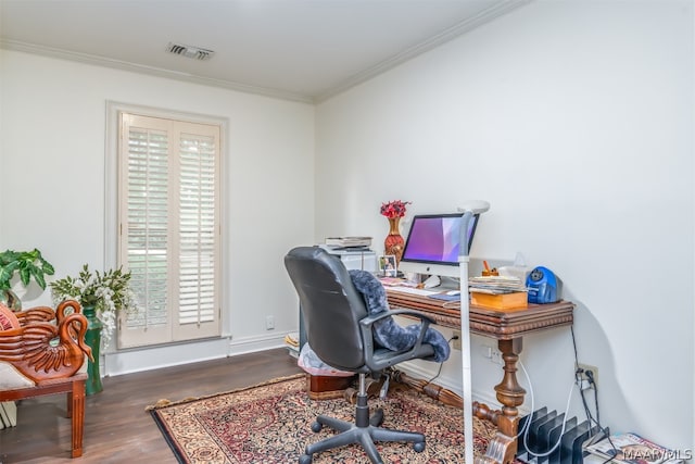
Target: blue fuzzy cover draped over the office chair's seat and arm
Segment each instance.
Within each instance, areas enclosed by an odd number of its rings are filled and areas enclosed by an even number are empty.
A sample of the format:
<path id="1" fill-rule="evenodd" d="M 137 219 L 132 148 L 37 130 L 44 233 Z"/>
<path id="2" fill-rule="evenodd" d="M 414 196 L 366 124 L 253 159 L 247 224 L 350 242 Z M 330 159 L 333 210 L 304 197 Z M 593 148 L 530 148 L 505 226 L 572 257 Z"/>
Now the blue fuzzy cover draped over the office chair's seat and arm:
<path id="1" fill-rule="evenodd" d="M 349 271 L 353 285 L 365 297 L 365 303 L 370 315 L 389 311 L 387 292 L 383 285 L 371 273 L 366 271 Z M 372 327 L 374 338 L 377 343 L 392 351 L 406 351 L 415 346 L 419 333 L 419 324 L 406 327 L 399 325 L 393 317 L 377 321 Z M 422 339 L 434 349 L 434 354 L 425 358 L 427 361 L 438 363 L 448 359 L 451 348 L 442 334 L 433 328 L 428 328 Z"/>

